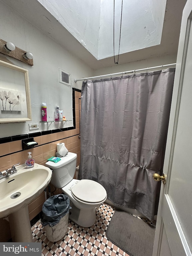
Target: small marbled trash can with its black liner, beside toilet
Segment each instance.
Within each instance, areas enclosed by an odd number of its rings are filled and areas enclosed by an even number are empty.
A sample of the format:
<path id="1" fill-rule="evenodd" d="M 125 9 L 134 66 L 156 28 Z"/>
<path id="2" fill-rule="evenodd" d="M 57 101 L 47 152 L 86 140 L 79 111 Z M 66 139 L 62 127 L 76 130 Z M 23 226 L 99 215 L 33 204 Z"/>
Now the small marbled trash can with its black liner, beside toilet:
<path id="1" fill-rule="evenodd" d="M 70 200 L 65 194 L 54 195 L 44 202 L 41 223 L 49 241 L 57 242 L 66 235 L 70 209 Z"/>

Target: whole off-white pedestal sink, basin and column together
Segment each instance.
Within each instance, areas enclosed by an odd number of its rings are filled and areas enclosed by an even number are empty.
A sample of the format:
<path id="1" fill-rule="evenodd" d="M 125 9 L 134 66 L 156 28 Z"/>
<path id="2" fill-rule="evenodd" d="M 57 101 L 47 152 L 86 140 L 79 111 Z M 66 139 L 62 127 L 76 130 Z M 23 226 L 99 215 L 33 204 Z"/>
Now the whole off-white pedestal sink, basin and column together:
<path id="1" fill-rule="evenodd" d="M 17 173 L 0 180 L 0 218 L 8 216 L 13 242 L 32 242 L 28 204 L 44 191 L 52 171 L 40 164 L 16 169 Z"/>

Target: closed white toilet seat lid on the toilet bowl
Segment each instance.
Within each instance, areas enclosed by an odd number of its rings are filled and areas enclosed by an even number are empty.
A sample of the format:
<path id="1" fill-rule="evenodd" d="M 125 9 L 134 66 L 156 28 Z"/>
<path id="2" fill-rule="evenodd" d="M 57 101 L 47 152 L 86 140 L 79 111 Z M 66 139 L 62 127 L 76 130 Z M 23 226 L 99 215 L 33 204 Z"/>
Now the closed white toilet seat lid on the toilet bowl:
<path id="1" fill-rule="evenodd" d="M 79 202 L 100 203 L 107 198 L 105 188 L 96 181 L 81 179 L 71 188 L 71 194 Z"/>

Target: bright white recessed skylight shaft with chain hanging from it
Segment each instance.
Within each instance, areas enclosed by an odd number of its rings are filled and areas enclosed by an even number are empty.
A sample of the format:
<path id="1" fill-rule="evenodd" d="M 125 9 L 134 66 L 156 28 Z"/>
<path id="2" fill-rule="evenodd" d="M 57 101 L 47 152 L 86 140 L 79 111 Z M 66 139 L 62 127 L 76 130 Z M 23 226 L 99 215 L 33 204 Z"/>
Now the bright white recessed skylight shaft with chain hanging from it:
<path id="1" fill-rule="evenodd" d="M 38 2 L 98 60 L 161 42 L 166 0 L 115 0 L 115 9 L 111 0 Z"/>

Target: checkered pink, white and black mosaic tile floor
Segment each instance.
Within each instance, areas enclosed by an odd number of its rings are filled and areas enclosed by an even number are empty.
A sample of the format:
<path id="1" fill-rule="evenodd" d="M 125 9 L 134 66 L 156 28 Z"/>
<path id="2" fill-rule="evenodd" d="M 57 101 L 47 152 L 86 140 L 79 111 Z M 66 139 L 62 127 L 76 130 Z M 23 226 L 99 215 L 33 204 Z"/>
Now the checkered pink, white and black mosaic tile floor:
<path id="1" fill-rule="evenodd" d="M 96 210 L 96 222 L 91 227 L 79 227 L 69 220 L 67 234 L 58 242 L 46 238 L 45 227 L 38 221 L 32 227 L 33 242 L 42 243 L 42 255 L 129 256 L 105 236 L 107 226 L 115 212 L 115 207 L 103 203 Z"/>

